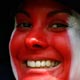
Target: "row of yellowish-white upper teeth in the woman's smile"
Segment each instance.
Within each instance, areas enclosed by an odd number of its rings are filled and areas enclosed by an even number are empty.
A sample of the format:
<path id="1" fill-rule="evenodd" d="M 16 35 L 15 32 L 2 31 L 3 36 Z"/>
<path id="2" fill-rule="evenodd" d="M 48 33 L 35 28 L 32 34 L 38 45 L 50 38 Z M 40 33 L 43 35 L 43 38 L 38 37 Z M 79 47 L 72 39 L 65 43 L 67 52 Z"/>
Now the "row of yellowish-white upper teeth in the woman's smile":
<path id="1" fill-rule="evenodd" d="M 59 61 L 50 61 L 50 60 L 26 61 L 26 65 L 32 68 L 55 67 L 58 64 L 59 64 Z"/>

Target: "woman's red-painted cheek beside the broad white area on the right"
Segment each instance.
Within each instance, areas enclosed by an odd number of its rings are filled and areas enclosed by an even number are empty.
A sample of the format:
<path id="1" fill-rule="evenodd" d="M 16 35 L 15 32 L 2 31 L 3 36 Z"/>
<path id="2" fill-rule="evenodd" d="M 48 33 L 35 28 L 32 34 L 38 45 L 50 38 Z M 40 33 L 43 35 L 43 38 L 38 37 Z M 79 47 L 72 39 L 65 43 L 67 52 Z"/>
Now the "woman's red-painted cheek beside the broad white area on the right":
<path id="1" fill-rule="evenodd" d="M 69 59 L 71 57 L 71 45 L 67 31 L 54 34 L 50 43 L 64 58 Z"/>

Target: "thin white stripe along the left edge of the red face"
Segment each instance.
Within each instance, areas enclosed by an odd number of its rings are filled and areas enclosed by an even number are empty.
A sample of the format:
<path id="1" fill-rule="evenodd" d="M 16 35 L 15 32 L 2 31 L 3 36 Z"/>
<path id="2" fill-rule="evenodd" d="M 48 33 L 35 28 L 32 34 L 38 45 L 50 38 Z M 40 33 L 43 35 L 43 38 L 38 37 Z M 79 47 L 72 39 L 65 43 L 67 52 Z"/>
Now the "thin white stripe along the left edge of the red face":
<path id="1" fill-rule="evenodd" d="M 13 37 L 15 31 L 16 31 L 16 25 L 17 25 L 17 23 L 16 23 L 16 20 L 15 20 L 15 27 L 14 27 L 14 30 L 11 34 L 10 42 L 9 42 L 9 53 L 10 53 L 10 60 L 11 60 L 11 66 L 12 66 L 13 74 L 14 74 L 16 80 L 18 80 L 18 73 L 17 73 L 16 67 L 15 67 L 15 64 L 14 64 L 14 61 L 13 61 L 13 58 L 12 58 L 12 55 L 11 55 L 11 51 L 10 51 L 10 43 L 11 43 L 12 37 Z"/>

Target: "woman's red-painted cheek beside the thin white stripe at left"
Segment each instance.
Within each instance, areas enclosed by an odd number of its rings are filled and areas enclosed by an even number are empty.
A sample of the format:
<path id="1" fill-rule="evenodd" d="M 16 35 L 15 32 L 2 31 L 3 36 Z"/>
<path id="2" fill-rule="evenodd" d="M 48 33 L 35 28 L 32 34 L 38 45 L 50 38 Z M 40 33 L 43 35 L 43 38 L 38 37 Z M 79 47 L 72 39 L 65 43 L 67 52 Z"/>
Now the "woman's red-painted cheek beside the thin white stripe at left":
<path id="1" fill-rule="evenodd" d="M 20 35 L 21 34 L 21 35 Z M 19 53 L 21 46 L 24 44 L 25 35 L 15 31 L 12 35 L 12 39 L 10 40 L 10 51 L 13 56 Z"/>

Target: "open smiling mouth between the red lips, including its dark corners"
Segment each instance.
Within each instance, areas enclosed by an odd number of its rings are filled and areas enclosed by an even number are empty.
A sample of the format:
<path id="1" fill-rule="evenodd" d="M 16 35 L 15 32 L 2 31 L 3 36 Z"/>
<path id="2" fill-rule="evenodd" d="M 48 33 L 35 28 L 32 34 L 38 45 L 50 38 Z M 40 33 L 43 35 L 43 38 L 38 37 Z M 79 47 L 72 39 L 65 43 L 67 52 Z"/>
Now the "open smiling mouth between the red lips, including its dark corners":
<path id="1" fill-rule="evenodd" d="M 60 63 L 57 60 L 26 60 L 23 62 L 28 68 L 52 68 L 57 67 Z"/>

